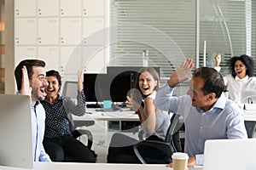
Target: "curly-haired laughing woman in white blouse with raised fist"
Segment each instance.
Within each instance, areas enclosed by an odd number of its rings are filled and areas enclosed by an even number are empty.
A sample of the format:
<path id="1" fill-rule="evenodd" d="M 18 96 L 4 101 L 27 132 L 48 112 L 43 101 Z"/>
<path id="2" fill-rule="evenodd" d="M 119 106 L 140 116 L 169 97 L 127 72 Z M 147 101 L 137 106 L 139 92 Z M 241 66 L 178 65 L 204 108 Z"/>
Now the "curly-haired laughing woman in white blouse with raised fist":
<path id="1" fill-rule="evenodd" d="M 215 56 L 215 69 L 220 71 L 221 55 Z M 244 90 L 256 91 L 256 78 L 253 77 L 253 58 L 246 54 L 235 56 L 230 59 L 231 73 L 224 77 L 225 86 L 229 92 L 229 99 L 234 100 L 240 107 L 246 103 L 241 99 L 241 92 Z"/>

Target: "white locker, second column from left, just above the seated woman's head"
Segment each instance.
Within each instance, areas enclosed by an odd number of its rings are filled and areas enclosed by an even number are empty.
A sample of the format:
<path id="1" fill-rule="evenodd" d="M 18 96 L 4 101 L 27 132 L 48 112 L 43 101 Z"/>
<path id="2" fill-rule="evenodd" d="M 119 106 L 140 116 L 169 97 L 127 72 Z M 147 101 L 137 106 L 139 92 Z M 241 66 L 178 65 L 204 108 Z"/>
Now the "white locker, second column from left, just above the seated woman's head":
<path id="1" fill-rule="evenodd" d="M 38 47 L 38 59 L 43 59 L 46 63 L 45 71 L 59 70 L 59 48 L 58 47 Z"/>

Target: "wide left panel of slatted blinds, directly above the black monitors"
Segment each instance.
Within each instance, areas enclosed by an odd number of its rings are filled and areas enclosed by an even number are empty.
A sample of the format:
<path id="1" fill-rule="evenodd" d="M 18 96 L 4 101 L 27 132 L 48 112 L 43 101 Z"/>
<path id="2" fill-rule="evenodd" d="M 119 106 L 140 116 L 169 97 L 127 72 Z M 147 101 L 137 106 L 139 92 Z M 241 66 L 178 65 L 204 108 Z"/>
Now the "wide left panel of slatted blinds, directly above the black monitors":
<path id="1" fill-rule="evenodd" d="M 110 65 L 160 66 L 164 82 L 186 56 L 195 57 L 195 0 L 111 1 Z"/>

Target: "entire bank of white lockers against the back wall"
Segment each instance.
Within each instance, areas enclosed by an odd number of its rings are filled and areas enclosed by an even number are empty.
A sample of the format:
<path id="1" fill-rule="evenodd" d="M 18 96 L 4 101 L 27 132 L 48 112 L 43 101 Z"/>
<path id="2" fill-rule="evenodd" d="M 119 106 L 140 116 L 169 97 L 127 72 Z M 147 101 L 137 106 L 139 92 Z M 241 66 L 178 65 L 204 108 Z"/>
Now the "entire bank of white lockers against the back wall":
<path id="1" fill-rule="evenodd" d="M 15 60 L 45 59 L 47 69 L 61 76 L 100 71 L 105 50 L 96 52 L 86 68 L 83 55 L 106 44 L 106 5 L 105 0 L 15 0 Z"/>

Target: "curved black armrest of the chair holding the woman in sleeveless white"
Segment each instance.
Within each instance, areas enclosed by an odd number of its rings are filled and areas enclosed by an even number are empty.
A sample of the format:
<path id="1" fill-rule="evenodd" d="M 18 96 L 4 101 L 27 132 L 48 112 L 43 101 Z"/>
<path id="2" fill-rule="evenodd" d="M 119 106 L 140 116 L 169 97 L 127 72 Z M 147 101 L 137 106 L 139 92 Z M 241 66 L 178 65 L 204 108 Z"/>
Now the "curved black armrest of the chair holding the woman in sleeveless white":
<path id="1" fill-rule="evenodd" d="M 142 145 L 147 145 L 150 147 L 154 147 L 158 150 L 163 151 L 167 156 L 172 156 L 172 153 L 174 152 L 173 150 L 173 146 L 165 143 L 165 142 L 160 142 L 160 141 L 154 141 L 154 140 L 144 140 L 142 142 L 139 142 L 137 144 L 133 145 L 133 150 L 137 156 L 137 158 L 139 159 L 139 161 L 141 161 L 143 164 L 146 164 L 147 162 L 143 159 L 143 156 L 141 156 L 138 147 L 142 146 Z"/>

